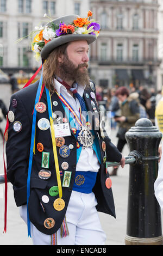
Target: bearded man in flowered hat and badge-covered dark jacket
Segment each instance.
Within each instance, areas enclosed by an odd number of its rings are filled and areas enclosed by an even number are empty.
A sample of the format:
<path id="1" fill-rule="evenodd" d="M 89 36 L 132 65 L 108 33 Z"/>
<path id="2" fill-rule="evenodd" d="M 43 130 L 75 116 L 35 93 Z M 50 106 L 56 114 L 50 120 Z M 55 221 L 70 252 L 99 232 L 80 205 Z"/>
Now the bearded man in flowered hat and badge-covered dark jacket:
<path id="1" fill-rule="evenodd" d="M 115 217 L 105 167 L 106 161 L 124 167 L 124 157 L 99 128 L 87 71 L 99 25 L 83 19 L 79 27 L 81 19 L 69 15 L 45 26 L 33 44 L 45 41 L 41 78 L 10 101 L 7 175 L 34 245 L 104 245 L 97 211 Z M 43 38 L 47 29 L 51 40 Z"/>

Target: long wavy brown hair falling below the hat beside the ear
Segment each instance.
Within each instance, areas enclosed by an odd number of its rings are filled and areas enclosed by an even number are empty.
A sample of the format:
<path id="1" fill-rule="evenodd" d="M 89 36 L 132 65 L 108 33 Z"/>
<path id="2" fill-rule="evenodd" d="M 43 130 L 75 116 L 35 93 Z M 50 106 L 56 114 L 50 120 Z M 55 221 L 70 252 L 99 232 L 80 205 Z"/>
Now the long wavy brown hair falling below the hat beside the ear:
<path id="1" fill-rule="evenodd" d="M 67 42 L 64 45 L 54 48 L 43 63 L 43 83 L 51 93 L 54 93 L 55 90 L 54 77 L 59 69 L 58 58 L 61 57 L 62 54 L 65 54 L 68 44 Z"/>

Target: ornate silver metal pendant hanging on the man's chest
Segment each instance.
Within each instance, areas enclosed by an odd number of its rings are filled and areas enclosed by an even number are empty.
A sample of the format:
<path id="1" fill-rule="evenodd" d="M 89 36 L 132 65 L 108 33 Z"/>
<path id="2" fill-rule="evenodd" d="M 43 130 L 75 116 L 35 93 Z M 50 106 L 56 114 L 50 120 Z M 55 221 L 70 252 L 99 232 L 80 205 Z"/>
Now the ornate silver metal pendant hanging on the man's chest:
<path id="1" fill-rule="evenodd" d="M 82 144 L 83 148 L 93 148 L 93 139 L 95 136 L 90 132 L 89 126 L 80 126 L 80 132 L 78 133 L 78 141 Z"/>

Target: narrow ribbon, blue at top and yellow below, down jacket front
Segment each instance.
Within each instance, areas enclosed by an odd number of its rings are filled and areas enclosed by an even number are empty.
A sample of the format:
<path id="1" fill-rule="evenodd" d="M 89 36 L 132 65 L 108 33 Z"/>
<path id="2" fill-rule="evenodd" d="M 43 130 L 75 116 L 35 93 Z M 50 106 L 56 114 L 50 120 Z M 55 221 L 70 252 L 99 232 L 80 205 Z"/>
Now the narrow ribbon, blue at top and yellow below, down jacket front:
<path id="1" fill-rule="evenodd" d="M 56 170 L 56 175 L 57 175 L 59 198 L 61 198 L 62 197 L 62 186 L 61 186 L 61 180 L 60 180 L 59 163 L 58 163 L 58 156 L 57 156 L 57 147 L 56 147 L 56 142 L 55 142 L 55 132 L 54 132 L 53 117 L 52 117 L 53 111 L 52 111 L 51 94 L 50 94 L 49 90 L 46 87 L 45 87 L 45 90 L 46 90 L 46 95 L 47 95 L 49 120 L 50 120 L 50 124 L 51 124 L 53 155 L 54 155 L 55 170 Z"/>

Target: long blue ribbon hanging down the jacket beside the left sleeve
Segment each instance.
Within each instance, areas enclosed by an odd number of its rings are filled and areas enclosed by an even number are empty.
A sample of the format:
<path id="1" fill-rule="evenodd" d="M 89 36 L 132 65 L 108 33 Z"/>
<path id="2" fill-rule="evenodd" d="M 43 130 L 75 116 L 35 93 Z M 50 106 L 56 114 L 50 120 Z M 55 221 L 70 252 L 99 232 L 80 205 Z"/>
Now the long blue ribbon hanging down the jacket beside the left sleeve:
<path id="1" fill-rule="evenodd" d="M 42 72 L 43 72 L 43 68 L 42 68 Z M 39 86 L 37 88 L 35 105 L 37 102 L 39 102 L 39 96 L 40 96 L 41 87 L 42 87 L 42 72 L 41 72 Z M 34 148 L 34 139 L 35 139 L 35 127 L 36 127 L 36 114 L 37 114 L 35 105 L 34 105 L 34 113 L 33 113 L 32 136 L 31 136 L 31 141 L 30 141 L 29 166 L 28 166 L 28 176 L 27 176 L 27 227 L 28 227 L 28 236 L 30 236 L 30 237 L 31 237 L 31 234 L 30 234 L 28 202 L 29 202 L 29 196 L 30 196 L 30 175 L 31 175 L 31 170 L 32 170 L 33 148 Z"/>

